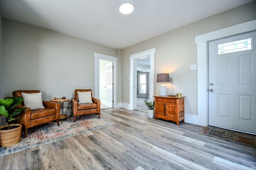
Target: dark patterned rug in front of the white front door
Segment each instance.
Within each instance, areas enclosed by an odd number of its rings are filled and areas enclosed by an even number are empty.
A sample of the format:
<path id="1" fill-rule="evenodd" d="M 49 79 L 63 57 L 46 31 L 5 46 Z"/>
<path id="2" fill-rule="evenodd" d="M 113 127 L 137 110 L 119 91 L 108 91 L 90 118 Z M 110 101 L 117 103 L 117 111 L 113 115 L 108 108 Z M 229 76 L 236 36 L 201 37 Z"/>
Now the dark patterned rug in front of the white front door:
<path id="1" fill-rule="evenodd" d="M 218 127 L 203 127 L 199 132 L 201 135 L 216 137 L 233 143 L 246 145 L 248 147 L 256 148 L 256 135 L 221 129 Z"/>

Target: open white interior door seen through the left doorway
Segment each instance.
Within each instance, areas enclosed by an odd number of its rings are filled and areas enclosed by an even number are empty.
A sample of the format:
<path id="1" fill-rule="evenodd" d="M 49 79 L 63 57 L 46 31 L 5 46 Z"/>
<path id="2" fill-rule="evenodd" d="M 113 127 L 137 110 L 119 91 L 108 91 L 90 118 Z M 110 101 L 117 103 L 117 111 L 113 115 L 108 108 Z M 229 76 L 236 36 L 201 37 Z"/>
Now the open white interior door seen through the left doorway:
<path id="1" fill-rule="evenodd" d="M 113 107 L 113 62 L 105 64 L 105 105 Z"/>

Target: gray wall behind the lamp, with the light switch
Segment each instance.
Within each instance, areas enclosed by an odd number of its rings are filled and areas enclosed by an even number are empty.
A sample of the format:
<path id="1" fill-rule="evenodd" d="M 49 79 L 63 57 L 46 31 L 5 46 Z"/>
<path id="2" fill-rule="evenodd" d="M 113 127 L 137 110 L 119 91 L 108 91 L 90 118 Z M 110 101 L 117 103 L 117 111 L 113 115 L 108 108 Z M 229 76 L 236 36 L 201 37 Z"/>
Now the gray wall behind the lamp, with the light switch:
<path id="1" fill-rule="evenodd" d="M 190 64 L 197 64 L 195 36 L 256 19 L 256 2 L 222 12 L 196 21 L 162 35 L 142 41 L 122 50 L 122 102 L 130 103 L 130 55 L 156 48 L 155 72 L 169 73 L 172 82 L 166 84 L 167 94 L 182 93 L 185 98 L 185 113 L 197 115 L 197 70 L 190 70 Z M 156 75 L 154 75 L 156 77 Z M 159 94 L 155 84 L 155 95 Z"/>

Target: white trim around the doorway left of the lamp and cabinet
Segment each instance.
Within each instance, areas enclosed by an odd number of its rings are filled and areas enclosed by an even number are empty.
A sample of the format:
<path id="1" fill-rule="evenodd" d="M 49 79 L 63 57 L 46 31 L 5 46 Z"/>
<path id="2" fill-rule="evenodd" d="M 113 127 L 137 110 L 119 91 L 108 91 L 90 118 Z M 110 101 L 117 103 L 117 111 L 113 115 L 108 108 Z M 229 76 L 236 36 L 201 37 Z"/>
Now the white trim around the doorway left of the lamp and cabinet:
<path id="1" fill-rule="evenodd" d="M 150 56 L 150 91 L 149 91 L 149 98 L 150 101 L 154 101 L 154 61 L 155 61 L 155 53 L 156 48 L 148 49 L 146 51 L 142 51 L 139 53 L 135 53 L 130 55 L 130 109 L 134 110 L 136 106 L 136 96 L 137 96 L 137 62 L 136 59 L 140 57 Z"/>

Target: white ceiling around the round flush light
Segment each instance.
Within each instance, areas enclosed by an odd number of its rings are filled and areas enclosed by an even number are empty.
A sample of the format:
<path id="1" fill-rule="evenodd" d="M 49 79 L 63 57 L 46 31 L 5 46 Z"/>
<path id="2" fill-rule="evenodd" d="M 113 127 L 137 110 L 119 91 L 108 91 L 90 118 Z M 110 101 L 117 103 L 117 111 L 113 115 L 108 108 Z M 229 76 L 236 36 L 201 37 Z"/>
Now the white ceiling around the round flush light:
<path id="1" fill-rule="evenodd" d="M 123 49 L 255 0 L 0 0 L 2 18 Z M 118 11 L 124 2 L 134 12 Z"/>

